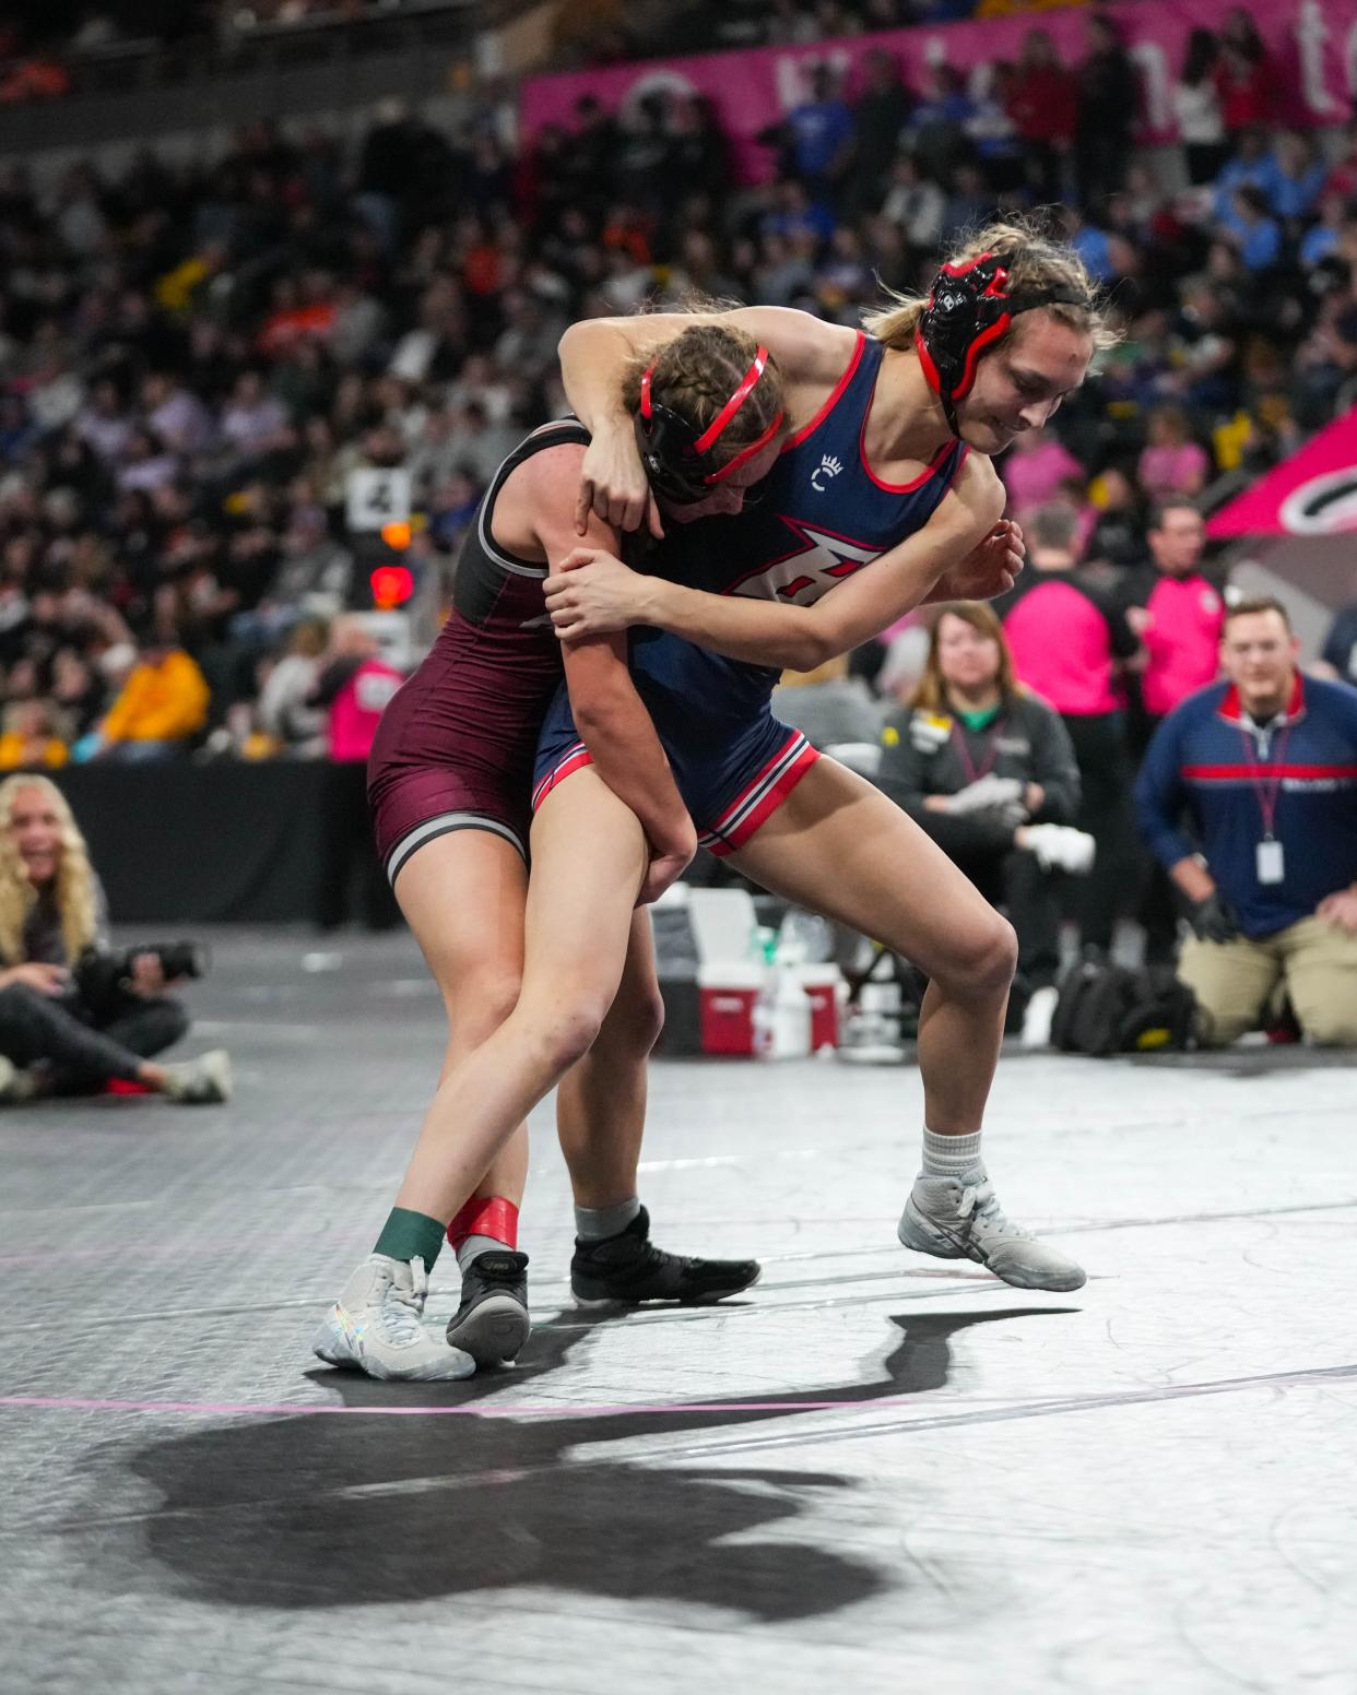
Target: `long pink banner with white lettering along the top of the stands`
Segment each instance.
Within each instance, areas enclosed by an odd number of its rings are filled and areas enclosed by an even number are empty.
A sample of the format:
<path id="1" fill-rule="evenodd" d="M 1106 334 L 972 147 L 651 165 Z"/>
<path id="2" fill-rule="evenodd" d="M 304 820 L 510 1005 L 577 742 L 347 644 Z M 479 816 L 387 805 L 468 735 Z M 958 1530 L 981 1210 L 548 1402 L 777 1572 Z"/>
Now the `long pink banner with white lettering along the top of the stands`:
<path id="1" fill-rule="evenodd" d="M 1187 36 L 1196 27 L 1216 29 L 1233 0 L 1138 0 L 1099 7 L 1116 19 L 1121 37 L 1140 71 L 1143 139 L 1174 141 L 1172 88 L 1182 64 Z M 1272 49 L 1286 90 L 1286 119 L 1294 124 L 1342 124 L 1357 95 L 1357 0 L 1254 0 L 1248 7 Z M 984 92 L 996 59 L 1016 59 L 1030 29 L 1045 29 L 1070 66 L 1084 58 L 1087 14 L 1081 8 L 994 17 L 972 24 L 896 29 L 879 36 L 823 41 L 809 47 L 758 47 L 743 53 L 707 53 L 687 59 L 643 59 L 563 76 L 534 76 L 524 83 L 521 117 L 529 139 L 543 124 L 573 127 L 575 102 L 597 95 L 611 112 L 628 112 L 655 90 L 677 88 L 706 95 L 734 142 L 740 178 L 767 178 L 772 159 L 755 136 L 809 98 L 809 71 L 828 59 L 846 73 L 846 92 L 857 90 L 857 66 L 870 47 L 891 51 L 916 90 L 924 69 L 945 61 L 967 71 L 972 93 Z"/>

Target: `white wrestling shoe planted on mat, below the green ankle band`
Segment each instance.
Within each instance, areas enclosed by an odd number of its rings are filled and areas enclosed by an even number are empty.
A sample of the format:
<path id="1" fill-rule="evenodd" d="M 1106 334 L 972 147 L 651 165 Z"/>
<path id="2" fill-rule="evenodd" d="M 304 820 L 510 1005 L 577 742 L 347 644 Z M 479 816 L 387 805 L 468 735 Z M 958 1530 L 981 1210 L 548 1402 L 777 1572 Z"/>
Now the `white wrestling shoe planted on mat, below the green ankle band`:
<path id="1" fill-rule="evenodd" d="M 316 1332 L 312 1353 L 331 1366 L 351 1366 L 383 1381 L 431 1383 L 470 1376 L 477 1363 L 419 1322 L 429 1273 L 416 1258 L 368 1254 Z"/>

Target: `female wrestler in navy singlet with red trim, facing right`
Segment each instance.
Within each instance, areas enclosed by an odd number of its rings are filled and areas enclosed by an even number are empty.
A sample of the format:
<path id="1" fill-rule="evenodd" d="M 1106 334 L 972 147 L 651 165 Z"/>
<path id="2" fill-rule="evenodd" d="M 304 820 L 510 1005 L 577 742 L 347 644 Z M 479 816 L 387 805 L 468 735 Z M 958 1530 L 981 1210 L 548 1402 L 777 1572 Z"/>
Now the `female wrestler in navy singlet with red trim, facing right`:
<path id="1" fill-rule="evenodd" d="M 690 322 L 568 332 L 563 370 L 572 400 L 607 437 L 604 464 L 623 458 L 626 417 L 656 485 L 702 473 L 682 420 L 638 405 L 646 376 L 660 373 L 656 339 Z M 641 598 L 646 620 L 673 634 L 634 642 L 633 680 L 707 846 L 765 886 L 877 936 L 931 978 L 919 1032 L 924 1170 L 901 1239 L 974 1258 L 1021 1287 L 1077 1288 L 1079 1266 L 1008 1222 L 980 1163 L 1016 956 L 1011 927 L 891 802 L 772 719 L 777 673 L 765 668 L 807 670 L 930 595 L 979 598 L 1011 581 L 987 453 L 1047 422 L 1082 381 L 1101 334 L 1087 276 L 1069 249 L 1001 225 L 943 268 L 926 302 L 901 300 L 872 319 L 867 337 L 763 308 L 716 322 L 757 325 L 777 344 L 792 434 L 740 520 L 670 527 L 656 556 L 665 578 L 645 580 Z M 606 481 L 592 478 L 611 502 Z M 965 568 L 945 576 L 957 561 Z M 595 556 L 580 581 L 597 588 L 609 570 L 616 580 L 617 563 Z M 570 576 L 555 585 L 567 602 Z M 641 822 L 592 770 L 560 697 L 538 773 L 519 1000 L 444 1078 L 402 1186 L 402 1205 L 431 1227 L 456 1212 L 524 1112 L 589 1051 L 617 995 L 646 866 Z M 572 1173 L 595 1192 L 611 1188 L 617 1215 L 636 1207 L 616 1141 L 572 1146 L 563 1132 L 563 1146 Z"/>

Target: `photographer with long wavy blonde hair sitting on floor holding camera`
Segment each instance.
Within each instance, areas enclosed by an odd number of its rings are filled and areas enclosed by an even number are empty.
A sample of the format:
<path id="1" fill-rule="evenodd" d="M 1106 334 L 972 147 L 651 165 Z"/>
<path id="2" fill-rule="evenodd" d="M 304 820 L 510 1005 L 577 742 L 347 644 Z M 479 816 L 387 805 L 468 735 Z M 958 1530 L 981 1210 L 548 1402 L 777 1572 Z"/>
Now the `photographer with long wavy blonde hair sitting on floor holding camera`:
<path id="1" fill-rule="evenodd" d="M 188 1029 L 165 990 L 197 975 L 192 949 L 110 949 L 85 837 L 44 776 L 0 783 L 0 1098 L 95 1093 L 112 1080 L 185 1105 L 229 1098 L 224 1053 L 151 1061 Z"/>

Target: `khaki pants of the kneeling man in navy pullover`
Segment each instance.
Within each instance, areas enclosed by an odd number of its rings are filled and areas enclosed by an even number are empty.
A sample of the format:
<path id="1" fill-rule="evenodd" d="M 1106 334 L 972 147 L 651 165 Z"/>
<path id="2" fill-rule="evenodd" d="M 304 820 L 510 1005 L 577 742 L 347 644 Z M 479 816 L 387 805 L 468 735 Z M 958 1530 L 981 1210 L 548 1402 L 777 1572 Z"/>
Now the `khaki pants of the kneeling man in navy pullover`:
<path id="1" fill-rule="evenodd" d="M 1357 936 L 1326 919 L 1301 919 L 1262 941 L 1203 942 L 1189 936 L 1177 975 L 1198 997 L 1206 1048 L 1225 1048 L 1255 1031 L 1279 983 L 1311 1042 L 1357 1044 Z"/>

